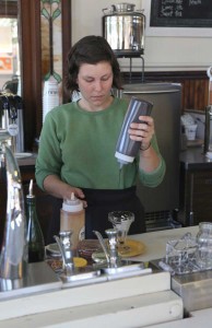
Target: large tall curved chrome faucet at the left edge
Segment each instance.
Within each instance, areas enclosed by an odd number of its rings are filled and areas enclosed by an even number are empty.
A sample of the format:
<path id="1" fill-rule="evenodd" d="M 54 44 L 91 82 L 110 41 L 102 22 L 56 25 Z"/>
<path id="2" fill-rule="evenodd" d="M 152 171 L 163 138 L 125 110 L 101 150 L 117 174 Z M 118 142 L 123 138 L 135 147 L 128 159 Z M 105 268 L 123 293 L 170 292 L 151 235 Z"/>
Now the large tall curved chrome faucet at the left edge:
<path id="1" fill-rule="evenodd" d="M 0 255 L 0 281 L 22 280 L 27 273 L 27 242 L 24 196 L 20 168 L 3 138 L 0 154 L 5 159 L 7 219 Z"/>

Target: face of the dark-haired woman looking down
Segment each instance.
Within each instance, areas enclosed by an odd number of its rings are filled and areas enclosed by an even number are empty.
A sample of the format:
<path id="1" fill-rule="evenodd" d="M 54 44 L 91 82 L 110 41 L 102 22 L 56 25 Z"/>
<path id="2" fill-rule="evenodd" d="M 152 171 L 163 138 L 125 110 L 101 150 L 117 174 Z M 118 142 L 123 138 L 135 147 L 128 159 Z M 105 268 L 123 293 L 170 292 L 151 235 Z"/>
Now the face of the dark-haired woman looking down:
<path id="1" fill-rule="evenodd" d="M 108 61 L 80 66 L 76 83 L 82 94 L 81 104 L 85 109 L 101 110 L 110 104 L 113 79 L 113 70 Z"/>

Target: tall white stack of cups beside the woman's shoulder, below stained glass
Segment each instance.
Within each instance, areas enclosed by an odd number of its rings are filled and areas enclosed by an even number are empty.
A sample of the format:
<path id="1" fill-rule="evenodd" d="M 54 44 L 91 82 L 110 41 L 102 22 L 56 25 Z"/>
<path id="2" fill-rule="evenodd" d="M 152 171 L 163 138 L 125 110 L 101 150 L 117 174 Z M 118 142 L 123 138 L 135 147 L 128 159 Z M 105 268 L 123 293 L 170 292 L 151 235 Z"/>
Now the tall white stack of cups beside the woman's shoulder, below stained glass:
<path id="1" fill-rule="evenodd" d="M 59 87 L 57 80 L 50 75 L 48 81 L 44 83 L 43 95 L 43 122 L 49 110 L 59 105 Z"/>

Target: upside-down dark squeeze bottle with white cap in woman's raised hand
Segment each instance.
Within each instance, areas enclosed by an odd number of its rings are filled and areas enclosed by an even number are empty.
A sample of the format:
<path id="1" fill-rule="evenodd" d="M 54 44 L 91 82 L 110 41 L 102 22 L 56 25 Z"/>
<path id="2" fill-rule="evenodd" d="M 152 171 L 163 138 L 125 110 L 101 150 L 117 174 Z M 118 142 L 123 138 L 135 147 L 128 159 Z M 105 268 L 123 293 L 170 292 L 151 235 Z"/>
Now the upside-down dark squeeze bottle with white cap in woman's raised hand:
<path id="1" fill-rule="evenodd" d="M 152 107 L 153 105 L 149 102 L 138 99 L 136 97 L 131 98 L 116 145 L 115 157 L 117 157 L 120 168 L 123 164 L 133 162 L 141 145 L 140 141 L 134 141 L 130 139 L 130 134 L 128 133 L 130 124 L 141 122 L 139 120 L 139 116 L 149 116 L 151 114 Z"/>

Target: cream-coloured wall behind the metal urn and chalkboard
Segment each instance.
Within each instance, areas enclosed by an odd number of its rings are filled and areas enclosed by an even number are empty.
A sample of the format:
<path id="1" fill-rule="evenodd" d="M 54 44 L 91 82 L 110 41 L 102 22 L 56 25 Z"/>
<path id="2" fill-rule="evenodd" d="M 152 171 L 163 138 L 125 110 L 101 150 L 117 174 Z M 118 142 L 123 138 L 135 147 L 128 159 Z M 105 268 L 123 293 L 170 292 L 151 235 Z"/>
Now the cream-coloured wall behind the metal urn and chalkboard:
<path id="1" fill-rule="evenodd" d="M 72 0 L 72 42 L 87 34 L 102 35 L 102 9 L 121 1 Z M 136 9 L 144 9 L 146 15 L 145 71 L 207 70 L 212 65 L 212 28 L 149 28 L 150 0 L 129 1 Z M 163 34 L 163 35 L 162 35 Z M 120 59 L 123 70 L 128 61 Z M 134 70 L 140 59 L 132 61 Z"/>

